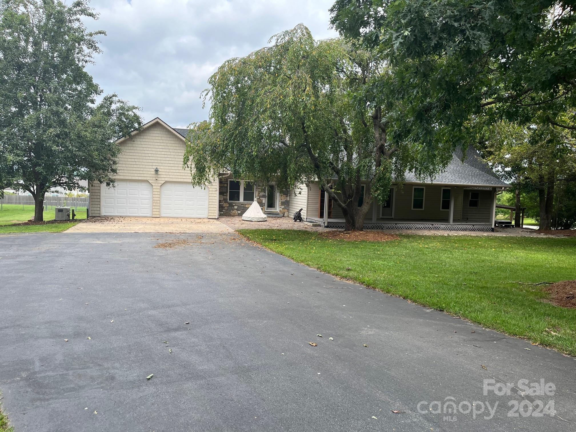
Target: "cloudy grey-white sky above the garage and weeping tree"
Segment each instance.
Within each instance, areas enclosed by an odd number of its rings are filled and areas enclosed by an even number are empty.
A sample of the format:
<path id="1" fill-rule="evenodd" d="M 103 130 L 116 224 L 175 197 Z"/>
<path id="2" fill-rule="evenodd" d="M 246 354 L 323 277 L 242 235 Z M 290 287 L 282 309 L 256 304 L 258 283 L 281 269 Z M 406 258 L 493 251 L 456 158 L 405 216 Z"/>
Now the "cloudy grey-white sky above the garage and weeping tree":
<path id="1" fill-rule="evenodd" d="M 92 0 L 89 29 L 107 32 L 89 66 L 105 93 L 142 107 L 145 122 L 172 127 L 207 119 L 200 92 L 221 63 L 266 46 L 303 22 L 316 39 L 334 37 L 334 0 Z"/>

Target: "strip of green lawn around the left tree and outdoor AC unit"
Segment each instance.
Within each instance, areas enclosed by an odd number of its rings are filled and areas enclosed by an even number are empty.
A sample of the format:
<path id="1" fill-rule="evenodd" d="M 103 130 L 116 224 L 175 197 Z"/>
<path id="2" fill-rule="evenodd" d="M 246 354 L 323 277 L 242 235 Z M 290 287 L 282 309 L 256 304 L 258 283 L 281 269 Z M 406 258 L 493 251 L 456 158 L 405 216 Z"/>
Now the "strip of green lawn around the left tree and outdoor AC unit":
<path id="1" fill-rule="evenodd" d="M 34 215 L 34 206 L 22 206 L 19 204 L 2 204 L 0 210 L 0 234 L 8 233 L 37 233 L 51 232 L 58 233 L 69 229 L 78 222 L 47 223 L 46 225 L 16 225 L 26 222 Z M 44 211 L 44 221 L 53 221 L 55 215 L 54 208 Z M 78 207 L 77 219 L 86 219 L 85 207 Z"/>

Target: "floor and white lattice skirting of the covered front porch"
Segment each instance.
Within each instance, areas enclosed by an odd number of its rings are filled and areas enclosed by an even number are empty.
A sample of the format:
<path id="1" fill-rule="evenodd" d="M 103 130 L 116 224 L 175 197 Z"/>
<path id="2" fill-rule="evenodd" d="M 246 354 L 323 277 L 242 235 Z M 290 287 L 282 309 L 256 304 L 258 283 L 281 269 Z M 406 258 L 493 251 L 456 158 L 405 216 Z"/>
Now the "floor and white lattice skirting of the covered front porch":
<path id="1" fill-rule="evenodd" d="M 343 218 L 306 218 L 306 222 L 319 223 L 324 228 L 344 229 Z M 492 231 L 491 223 L 486 221 L 418 221 L 414 219 L 378 219 L 375 222 L 365 221 L 364 229 L 412 229 L 412 230 L 447 230 L 447 231 Z"/>

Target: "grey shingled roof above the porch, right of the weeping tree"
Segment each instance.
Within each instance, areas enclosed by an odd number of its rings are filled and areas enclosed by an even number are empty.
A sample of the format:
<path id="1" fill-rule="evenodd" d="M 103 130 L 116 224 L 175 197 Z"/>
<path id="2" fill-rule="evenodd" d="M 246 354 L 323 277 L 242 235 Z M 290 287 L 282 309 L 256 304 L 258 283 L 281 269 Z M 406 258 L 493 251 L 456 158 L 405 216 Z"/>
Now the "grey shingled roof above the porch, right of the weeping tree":
<path id="1" fill-rule="evenodd" d="M 464 154 L 461 149 L 457 149 L 452 154 L 452 161 L 446 168 L 434 176 L 426 179 L 425 183 L 457 184 L 469 186 L 491 186 L 509 187 L 510 185 L 500 180 L 492 171 L 490 166 L 480 158 L 480 153 L 475 149 L 468 149 L 466 158 L 462 160 Z M 422 183 L 414 173 L 406 173 L 407 183 Z"/>

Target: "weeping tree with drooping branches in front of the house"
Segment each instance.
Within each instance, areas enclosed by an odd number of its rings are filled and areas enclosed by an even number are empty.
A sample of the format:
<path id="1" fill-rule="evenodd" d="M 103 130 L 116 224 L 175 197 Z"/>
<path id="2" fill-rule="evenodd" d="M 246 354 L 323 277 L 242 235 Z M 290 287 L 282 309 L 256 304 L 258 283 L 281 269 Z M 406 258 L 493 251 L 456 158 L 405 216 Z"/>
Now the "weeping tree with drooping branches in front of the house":
<path id="1" fill-rule="evenodd" d="M 191 125 L 184 156 L 192 183 L 225 169 L 285 188 L 319 181 L 345 229 L 362 230 L 393 178 L 437 165 L 391 133 L 399 107 L 371 96 L 374 80 L 388 75 L 376 54 L 342 39 L 316 41 L 301 24 L 269 43 L 210 77 L 210 119 Z"/>

